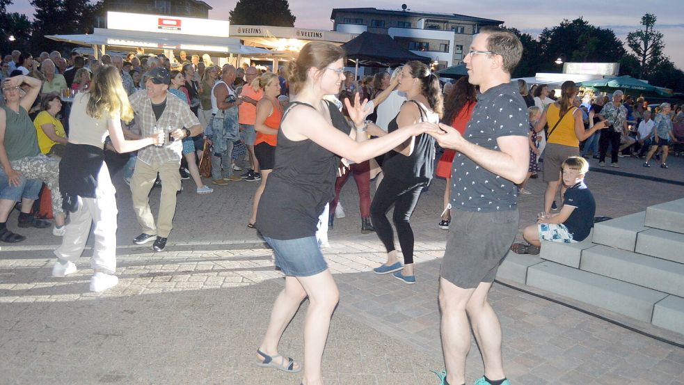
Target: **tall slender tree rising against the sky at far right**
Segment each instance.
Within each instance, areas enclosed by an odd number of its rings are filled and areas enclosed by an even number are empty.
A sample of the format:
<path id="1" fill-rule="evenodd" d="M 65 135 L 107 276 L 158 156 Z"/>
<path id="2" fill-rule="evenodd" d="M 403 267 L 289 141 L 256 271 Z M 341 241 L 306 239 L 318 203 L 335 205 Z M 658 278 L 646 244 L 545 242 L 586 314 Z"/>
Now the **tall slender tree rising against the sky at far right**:
<path id="1" fill-rule="evenodd" d="M 662 49 L 662 33 L 654 29 L 655 15 L 646 13 L 642 16 L 643 29 L 637 29 L 627 34 L 627 45 L 639 58 L 639 79 L 644 79 L 658 68 L 665 59 Z"/>

